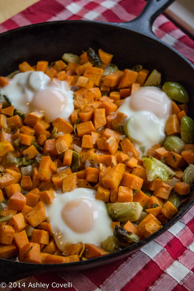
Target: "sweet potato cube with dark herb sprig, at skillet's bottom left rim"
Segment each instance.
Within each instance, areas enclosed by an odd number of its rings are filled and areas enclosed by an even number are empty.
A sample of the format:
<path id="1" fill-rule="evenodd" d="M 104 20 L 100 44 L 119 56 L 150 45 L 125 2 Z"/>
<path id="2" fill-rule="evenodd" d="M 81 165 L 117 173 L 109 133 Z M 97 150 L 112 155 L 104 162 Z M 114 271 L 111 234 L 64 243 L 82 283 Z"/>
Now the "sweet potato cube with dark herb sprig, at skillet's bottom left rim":
<path id="1" fill-rule="evenodd" d="M 19 260 L 26 263 L 40 264 L 40 244 L 29 242 L 19 249 Z"/>

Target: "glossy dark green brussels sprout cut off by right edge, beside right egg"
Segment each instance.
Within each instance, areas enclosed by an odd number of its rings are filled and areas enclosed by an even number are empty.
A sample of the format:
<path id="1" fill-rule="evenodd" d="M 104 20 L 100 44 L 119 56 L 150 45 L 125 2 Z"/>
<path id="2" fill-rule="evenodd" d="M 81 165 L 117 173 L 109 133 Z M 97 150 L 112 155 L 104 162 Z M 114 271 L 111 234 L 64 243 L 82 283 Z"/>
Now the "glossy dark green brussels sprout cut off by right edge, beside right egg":
<path id="1" fill-rule="evenodd" d="M 181 139 L 186 144 L 194 143 L 194 121 L 188 116 L 181 119 Z"/>

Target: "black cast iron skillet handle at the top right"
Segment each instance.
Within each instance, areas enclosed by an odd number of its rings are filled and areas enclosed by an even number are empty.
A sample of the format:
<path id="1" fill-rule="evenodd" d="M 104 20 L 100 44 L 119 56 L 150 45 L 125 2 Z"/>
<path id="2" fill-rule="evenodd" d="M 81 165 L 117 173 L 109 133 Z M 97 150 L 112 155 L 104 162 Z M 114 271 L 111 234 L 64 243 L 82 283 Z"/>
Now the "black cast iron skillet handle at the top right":
<path id="1" fill-rule="evenodd" d="M 152 25 L 156 17 L 165 11 L 175 0 L 147 0 L 140 15 L 128 22 L 120 22 L 119 26 L 147 36 L 154 36 Z"/>

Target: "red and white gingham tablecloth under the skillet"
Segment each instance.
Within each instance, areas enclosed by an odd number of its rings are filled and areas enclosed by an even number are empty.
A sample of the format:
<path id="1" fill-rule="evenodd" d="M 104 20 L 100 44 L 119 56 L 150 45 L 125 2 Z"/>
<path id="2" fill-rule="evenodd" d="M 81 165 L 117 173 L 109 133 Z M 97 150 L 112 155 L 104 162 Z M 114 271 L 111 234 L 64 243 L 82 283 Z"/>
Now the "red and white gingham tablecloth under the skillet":
<path id="1" fill-rule="evenodd" d="M 0 33 L 32 23 L 64 19 L 129 21 L 143 0 L 40 0 L 0 24 Z M 164 15 L 153 26 L 156 36 L 194 64 L 194 41 Z M 6 270 L 5 270 L 6 272 Z M 63 285 L 63 288 L 60 287 Z M 45 273 L 7 284 L 13 290 L 194 291 L 194 206 L 168 231 L 127 258 L 82 272 Z"/>

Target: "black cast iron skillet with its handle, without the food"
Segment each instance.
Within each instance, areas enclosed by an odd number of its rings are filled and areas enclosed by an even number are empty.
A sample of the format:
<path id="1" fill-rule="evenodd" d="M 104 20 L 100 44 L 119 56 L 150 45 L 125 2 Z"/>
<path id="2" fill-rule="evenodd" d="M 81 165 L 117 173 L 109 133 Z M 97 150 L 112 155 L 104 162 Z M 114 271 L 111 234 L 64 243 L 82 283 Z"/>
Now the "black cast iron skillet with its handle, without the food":
<path id="1" fill-rule="evenodd" d="M 119 69 L 141 64 L 162 73 L 162 82 L 179 82 L 190 95 L 189 115 L 194 118 L 194 66 L 179 52 L 166 45 L 152 32 L 152 24 L 174 0 L 150 0 L 139 17 L 125 23 L 92 21 L 55 21 L 14 29 L 0 35 L 0 75 L 18 69 L 19 63 L 38 60 L 56 61 L 65 52 L 80 55 L 82 50 L 99 48 L 114 55 Z M 13 282 L 41 272 L 79 271 L 127 257 L 167 230 L 194 203 L 194 192 L 176 217 L 157 233 L 123 250 L 82 262 L 38 265 L 0 259 L 1 281 Z"/>

